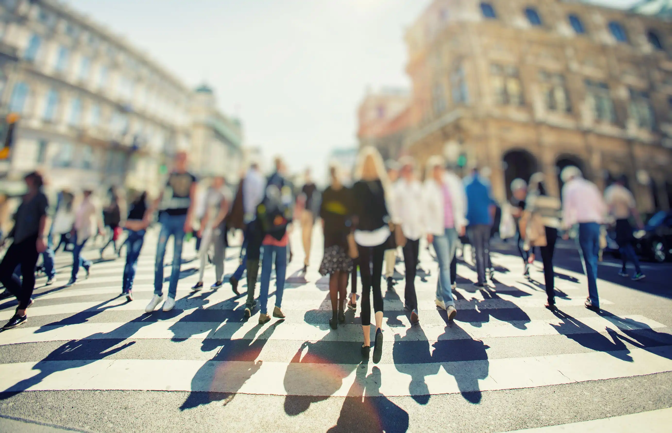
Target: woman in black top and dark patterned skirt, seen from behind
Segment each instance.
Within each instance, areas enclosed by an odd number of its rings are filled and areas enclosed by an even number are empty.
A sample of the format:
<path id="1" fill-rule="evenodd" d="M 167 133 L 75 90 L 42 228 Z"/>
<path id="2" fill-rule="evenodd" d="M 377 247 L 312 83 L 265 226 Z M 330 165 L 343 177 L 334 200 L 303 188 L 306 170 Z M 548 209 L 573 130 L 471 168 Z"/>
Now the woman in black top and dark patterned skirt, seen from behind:
<path id="1" fill-rule="evenodd" d="M 347 236 L 350 234 L 350 191 L 343 187 L 336 167 L 331 167 L 331 185 L 322 194 L 320 217 L 325 235 L 325 255 L 320 265 L 320 274 L 329 274 L 329 297 L 331 298 L 331 319 L 329 325 L 337 329 L 338 323 L 345 323 L 343 303 L 345 303 L 347 277 L 352 272 L 352 259 L 348 255 Z M 340 299 L 339 299 L 340 296 Z"/>

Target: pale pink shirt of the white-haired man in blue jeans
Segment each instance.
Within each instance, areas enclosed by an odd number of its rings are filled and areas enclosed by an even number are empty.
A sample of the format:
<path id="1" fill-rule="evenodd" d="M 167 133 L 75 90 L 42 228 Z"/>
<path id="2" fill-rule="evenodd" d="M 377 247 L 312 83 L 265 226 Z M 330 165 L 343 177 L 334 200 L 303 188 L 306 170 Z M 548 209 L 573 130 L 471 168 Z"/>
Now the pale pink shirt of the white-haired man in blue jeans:
<path id="1" fill-rule="evenodd" d="M 607 205 L 597 186 L 583 178 L 574 178 L 562 187 L 562 221 L 566 227 L 576 223 L 604 222 Z"/>

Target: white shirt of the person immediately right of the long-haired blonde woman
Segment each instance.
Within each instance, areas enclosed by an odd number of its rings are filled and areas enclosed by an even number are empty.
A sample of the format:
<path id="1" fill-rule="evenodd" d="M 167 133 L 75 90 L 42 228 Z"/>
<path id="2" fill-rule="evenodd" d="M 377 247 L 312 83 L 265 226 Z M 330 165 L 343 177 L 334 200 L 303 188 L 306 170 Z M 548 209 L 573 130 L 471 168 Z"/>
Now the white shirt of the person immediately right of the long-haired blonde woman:
<path id="1" fill-rule="evenodd" d="M 401 224 L 407 239 L 417 241 L 425 233 L 423 188 L 418 180 L 400 179 L 392 188 L 392 222 Z"/>

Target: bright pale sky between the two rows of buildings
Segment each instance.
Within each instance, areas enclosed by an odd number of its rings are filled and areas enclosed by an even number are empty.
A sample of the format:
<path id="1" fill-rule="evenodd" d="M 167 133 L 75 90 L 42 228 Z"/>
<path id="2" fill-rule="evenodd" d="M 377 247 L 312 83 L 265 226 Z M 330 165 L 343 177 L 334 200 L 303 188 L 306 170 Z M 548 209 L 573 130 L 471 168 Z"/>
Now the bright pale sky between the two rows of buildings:
<path id="1" fill-rule="evenodd" d="M 247 145 L 316 177 L 356 144 L 368 85 L 409 85 L 403 32 L 430 1 L 67 0 L 190 87 L 206 81 Z"/>

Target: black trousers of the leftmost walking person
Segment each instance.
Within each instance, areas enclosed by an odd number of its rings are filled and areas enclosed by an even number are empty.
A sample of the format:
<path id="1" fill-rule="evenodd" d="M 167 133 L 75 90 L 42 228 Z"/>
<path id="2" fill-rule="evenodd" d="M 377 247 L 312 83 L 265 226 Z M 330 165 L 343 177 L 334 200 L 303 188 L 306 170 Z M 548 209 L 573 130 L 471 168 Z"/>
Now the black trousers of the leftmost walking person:
<path id="1" fill-rule="evenodd" d="M 19 309 L 26 309 L 35 288 L 35 265 L 38 262 L 37 235 L 12 243 L 0 263 L 0 282 L 19 301 Z M 21 265 L 23 280 L 14 274 L 17 265 Z"/>

